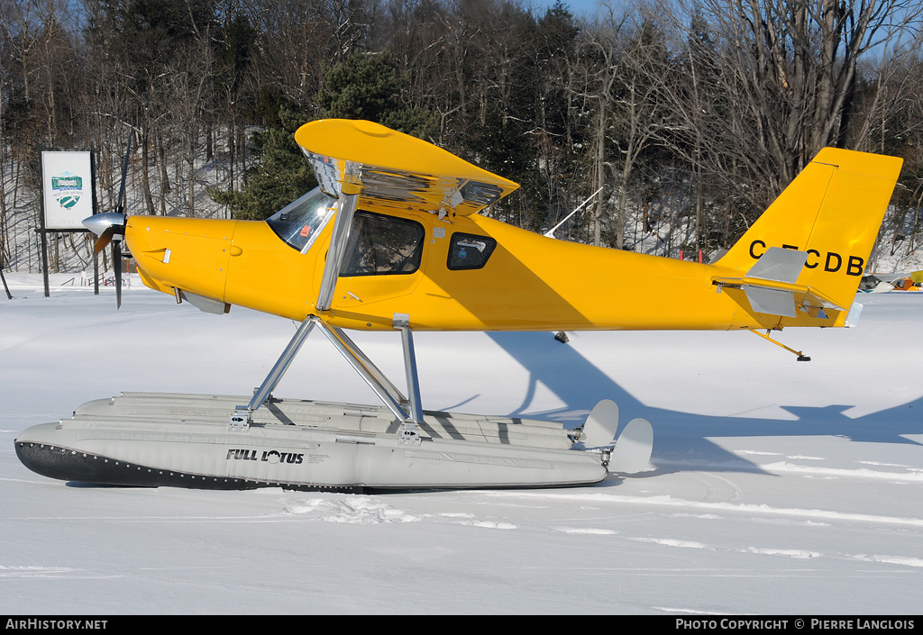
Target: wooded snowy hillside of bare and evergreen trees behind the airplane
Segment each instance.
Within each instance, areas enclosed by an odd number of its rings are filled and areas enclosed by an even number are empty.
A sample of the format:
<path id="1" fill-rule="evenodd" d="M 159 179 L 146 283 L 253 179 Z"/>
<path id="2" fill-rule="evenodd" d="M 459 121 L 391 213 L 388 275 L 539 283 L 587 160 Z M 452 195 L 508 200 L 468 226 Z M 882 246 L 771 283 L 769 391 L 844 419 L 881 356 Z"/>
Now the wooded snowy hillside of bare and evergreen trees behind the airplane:
<path id="1" fill-rule="evenodd" d="M 364 118 L 521 184 L 489 215 L 676 258 L 732 244 L 824 146 L 904 157 L 879 254 L 923 237 L 923 3 L 0 0 L 0 262 L 39 270 L 40 152 L 113 210 L 265 218 L 314 185 L 297 126 Z M 90 261 L 84 234 L 50 268 Z M 871 266 L 874 267 L 874 260 Z"/>

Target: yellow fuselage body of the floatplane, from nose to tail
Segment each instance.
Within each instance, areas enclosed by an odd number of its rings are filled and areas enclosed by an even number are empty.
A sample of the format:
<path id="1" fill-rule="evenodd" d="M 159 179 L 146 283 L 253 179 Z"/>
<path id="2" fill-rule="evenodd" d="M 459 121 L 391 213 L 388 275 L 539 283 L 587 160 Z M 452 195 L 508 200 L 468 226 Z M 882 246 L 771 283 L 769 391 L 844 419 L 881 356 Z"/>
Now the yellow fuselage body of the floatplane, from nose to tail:
<path id="1" fill-rule="evenodd" d="M 142 280 L 163 293 L 179 288 L 296 320 L 318 315 L 347 329 L 391 329 L 394 314 L 410 316 L 418 330 L 752 329 L 790 321 L 743 310 L 735 297 L 742 292 L 713 284 L 738 273 L 727 268 L 568 243 L 478 214 L 401 217 L 424 227 L 419 268 L 341 276 L 322 312 L 315 304 L 332 222 L 305 254 L 266 222 L 133 216 L 126 242 Z M 454 233 L 497 241 L 483 269 L 450 270 Z"/>

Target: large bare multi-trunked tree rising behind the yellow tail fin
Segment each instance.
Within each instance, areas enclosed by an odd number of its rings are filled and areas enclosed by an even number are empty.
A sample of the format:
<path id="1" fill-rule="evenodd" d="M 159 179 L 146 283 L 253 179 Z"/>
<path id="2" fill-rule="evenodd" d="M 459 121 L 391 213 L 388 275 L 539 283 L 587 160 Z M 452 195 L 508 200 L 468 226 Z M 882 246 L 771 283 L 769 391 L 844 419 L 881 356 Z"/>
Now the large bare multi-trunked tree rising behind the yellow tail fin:
<path id="1" fill-rule="evenodd" d="M 821 148 L 867 145 L 888 102 L 883 83 L 860 82 L 859 63 L 884 82 L 916 55 L 923 4 L 655 0 L 650 15 L 681 60 L 663 98 L 665 141 L 762 209 Z"/>

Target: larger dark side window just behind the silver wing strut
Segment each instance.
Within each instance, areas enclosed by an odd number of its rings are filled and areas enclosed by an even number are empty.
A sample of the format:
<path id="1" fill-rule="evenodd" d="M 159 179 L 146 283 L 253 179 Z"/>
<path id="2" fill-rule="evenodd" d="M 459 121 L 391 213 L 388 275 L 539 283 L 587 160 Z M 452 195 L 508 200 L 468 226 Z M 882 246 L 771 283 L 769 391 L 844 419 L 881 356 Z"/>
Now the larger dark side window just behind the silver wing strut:
<path id="1" fill-rule="evenodd" d="M 419 222 L 358 210 L 340 275 L 414 273 L 420 268 L 425 234 Z"/>

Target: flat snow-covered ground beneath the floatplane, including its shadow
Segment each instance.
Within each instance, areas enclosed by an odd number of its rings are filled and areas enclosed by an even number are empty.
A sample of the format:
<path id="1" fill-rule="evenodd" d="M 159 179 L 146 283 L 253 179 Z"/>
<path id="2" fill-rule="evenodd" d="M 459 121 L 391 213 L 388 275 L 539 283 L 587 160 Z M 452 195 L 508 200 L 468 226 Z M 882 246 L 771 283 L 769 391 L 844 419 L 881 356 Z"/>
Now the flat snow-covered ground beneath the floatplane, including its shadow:
<path id="1" fill-rule="evenodd" d="M 53 282 L 66 282 L 62 277 Z M 359 496 L 67 484 L 13 439 L 122 390 L 249 395 L 294 333 L 234 307 L 0 294 L 0 613 L 914 615 L 923 605 L 923 294 L 857 329 L 420 333 L 428 409 L 654 425 L 650 469 L 572 489 Z M 402 377 L 396 335 L 358 333 Z M 321 337 L 282 397 L 376 403 Z"/>

